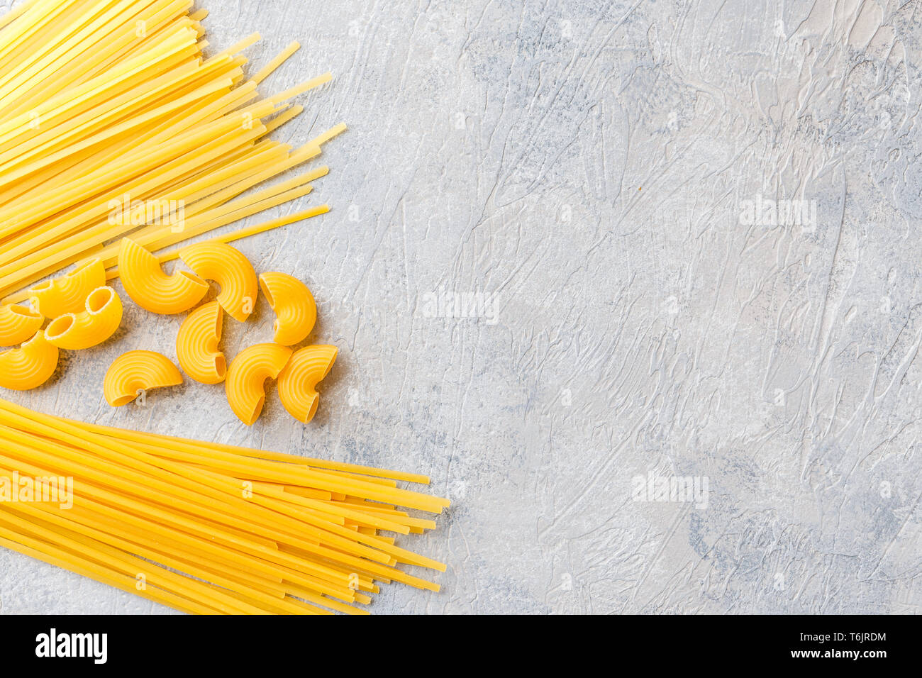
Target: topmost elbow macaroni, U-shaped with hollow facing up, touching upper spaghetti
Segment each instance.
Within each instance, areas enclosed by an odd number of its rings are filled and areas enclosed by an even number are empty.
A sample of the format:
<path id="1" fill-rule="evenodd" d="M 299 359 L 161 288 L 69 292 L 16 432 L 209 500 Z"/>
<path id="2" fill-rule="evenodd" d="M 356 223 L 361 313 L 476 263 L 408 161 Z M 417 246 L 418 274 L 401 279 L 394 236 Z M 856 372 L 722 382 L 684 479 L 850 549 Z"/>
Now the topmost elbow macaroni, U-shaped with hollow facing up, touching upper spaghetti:
<path id="1" fill-rule="evenodd" d="M 128 296 L 151 313 L 183 313 L 202 301 L 208 291 L 208 283 L 194 273 L 164 273 L 158 258 L 131 238 L 122 238 L 118 274 Z"/>

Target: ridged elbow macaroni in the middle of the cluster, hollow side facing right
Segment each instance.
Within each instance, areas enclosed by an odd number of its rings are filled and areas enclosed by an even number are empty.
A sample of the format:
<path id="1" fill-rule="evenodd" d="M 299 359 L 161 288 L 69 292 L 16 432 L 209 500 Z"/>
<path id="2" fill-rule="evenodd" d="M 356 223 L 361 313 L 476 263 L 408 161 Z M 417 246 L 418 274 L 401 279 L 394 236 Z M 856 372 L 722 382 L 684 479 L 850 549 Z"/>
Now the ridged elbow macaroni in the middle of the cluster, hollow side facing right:
<path id="1" fill-rule="evenodd" d="M 218 350 L 224 313 L 218 302 L 204 303 L 183 320 L 176 335 L 176 357 L 185 374 L 202 384 L 224 381 L 227 365 Z"/>

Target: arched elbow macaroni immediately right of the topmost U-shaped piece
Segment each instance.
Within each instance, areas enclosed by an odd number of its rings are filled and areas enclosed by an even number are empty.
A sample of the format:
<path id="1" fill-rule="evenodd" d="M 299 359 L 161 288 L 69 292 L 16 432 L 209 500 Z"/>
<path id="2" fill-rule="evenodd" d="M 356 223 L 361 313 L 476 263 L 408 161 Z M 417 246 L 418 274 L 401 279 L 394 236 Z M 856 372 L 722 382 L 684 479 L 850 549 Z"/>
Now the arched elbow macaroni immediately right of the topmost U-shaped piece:
<path id="1" fill-rule="evenodd" d="M 218 303 L 234 320 L 243 322 L 253 313 L 256 271 L 240 250 L 224 243 L 198 243 L 183 247 L 179 257 L 197 275 L 219 284 Z"/>

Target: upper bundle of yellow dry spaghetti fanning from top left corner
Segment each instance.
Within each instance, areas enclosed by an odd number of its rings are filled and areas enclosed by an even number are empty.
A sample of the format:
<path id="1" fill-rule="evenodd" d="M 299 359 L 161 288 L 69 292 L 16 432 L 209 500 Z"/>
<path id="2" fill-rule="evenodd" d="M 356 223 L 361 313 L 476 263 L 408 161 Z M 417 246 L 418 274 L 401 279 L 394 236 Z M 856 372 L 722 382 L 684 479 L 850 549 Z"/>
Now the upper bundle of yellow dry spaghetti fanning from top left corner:
<path id="1" fill-rule="evenodd" d="M 0 18 L 0 299 L 99 257 L 107 278 L 122 236 L 155 251 L 308 195 L 326 167 L 251 191 L 321 153 L 337 125 L 298 149 L 267 138 L 301 113 L 313 77 L 256 88 L 299 47 L 252 77 L 250 36 L 207 57 L 192 0 L 27 0 Z M 216 239 L 322 214 L 325 205 Z"/>

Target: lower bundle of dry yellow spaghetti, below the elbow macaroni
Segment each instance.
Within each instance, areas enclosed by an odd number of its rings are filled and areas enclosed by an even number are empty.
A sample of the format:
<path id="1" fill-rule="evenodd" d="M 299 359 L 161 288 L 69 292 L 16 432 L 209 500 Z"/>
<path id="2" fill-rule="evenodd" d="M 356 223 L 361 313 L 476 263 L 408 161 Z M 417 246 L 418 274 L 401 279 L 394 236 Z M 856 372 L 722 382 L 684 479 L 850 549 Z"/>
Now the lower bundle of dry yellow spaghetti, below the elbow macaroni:
<path id="1" fill-rule="evenodd" d="M 444 571 L 396 544 L 425 476 L 76 422 L 0 399 L 0 545 L 188 613 L 365 613 Z"/>

